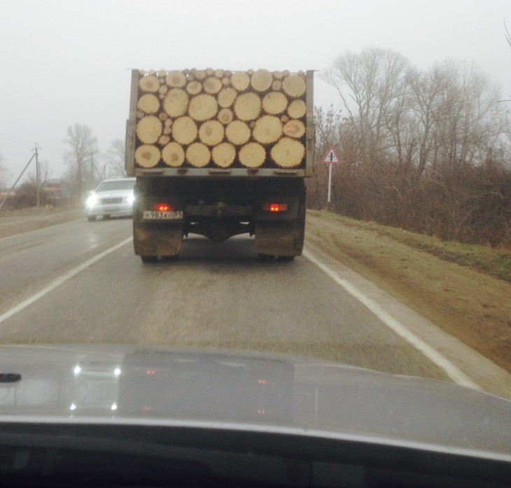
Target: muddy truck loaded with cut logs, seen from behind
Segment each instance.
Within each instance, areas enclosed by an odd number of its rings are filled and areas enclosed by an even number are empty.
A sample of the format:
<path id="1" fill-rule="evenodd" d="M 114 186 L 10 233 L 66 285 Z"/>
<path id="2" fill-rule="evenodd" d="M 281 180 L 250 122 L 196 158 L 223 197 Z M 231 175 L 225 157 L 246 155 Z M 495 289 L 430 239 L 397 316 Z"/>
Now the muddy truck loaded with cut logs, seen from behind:
<path id="1" fill-rule="evenodd" d="M 134 251 L 248 233 L 261 259 L 300 256 L 314 151 L 313 71 L 132 71 L 126 171 Z"/>

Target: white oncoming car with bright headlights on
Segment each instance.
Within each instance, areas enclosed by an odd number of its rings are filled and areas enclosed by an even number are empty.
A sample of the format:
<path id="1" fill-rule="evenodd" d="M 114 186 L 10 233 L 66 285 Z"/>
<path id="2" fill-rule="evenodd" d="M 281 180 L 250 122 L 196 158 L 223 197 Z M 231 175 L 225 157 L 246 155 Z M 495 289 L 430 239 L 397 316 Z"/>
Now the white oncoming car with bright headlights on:
<path id="1" fill-rule="evenodd" d="M 133 187 L 135 178 L 103 180 L 90 193 L 85 202 L 87 220 L 92 222 L 97 216 L 133 216 Z"/>

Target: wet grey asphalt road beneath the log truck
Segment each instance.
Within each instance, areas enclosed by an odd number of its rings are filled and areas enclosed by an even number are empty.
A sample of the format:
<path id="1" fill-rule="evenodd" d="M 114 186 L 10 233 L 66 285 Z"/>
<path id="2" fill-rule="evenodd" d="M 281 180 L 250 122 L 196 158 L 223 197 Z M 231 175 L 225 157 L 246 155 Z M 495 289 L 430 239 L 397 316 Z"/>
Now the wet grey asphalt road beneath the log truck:
<path id="1" fill-rule="evenodd" d="M 143 264 L 131 232 L 130 219 L 80 219 L 0 239 L 0 342 L 278 351 L 400 375 L 467 377 L 511 396 L 510 375 L 309 244 L 291 263 L 262 262 L 251 238 L 192 236 L 178 259 Z M 392 330 L 385 314 L 419 344 Z"/>

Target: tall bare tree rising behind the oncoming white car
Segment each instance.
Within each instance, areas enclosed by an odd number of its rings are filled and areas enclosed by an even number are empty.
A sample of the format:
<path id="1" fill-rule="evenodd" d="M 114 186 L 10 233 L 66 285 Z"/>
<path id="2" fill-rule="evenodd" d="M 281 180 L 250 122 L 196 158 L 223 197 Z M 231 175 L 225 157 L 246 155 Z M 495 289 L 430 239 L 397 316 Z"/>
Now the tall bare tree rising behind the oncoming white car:
<path id="1" fill-rule="evenodd" d="M 87 125 L 78 124 L 67 127 L 67 139 L 64 139 L 68 150 L 64 160 L 69 165 L 67 177 L 71 186 L 76 189 L 78 197 L 83 196 L 83 189 L 94 174 L 94 156 L 97 155 L 97 139 Z"/>

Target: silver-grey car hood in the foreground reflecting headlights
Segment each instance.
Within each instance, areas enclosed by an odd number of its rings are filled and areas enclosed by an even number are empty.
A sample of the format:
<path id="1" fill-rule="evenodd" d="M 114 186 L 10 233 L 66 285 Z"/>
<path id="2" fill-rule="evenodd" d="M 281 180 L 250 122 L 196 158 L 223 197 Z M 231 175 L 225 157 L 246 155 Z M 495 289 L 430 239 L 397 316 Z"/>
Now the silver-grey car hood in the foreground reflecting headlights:
<path id="1" fill-rule="evenodd" d="M 511 402 L 310 358 L 124 346 L 0 347 L 0 421 L 244 428 L 511 461 Z"/>

